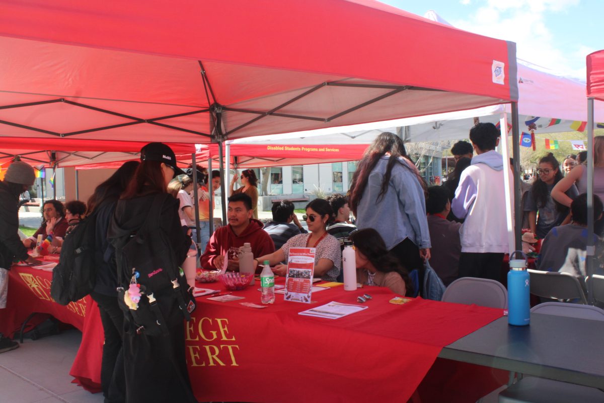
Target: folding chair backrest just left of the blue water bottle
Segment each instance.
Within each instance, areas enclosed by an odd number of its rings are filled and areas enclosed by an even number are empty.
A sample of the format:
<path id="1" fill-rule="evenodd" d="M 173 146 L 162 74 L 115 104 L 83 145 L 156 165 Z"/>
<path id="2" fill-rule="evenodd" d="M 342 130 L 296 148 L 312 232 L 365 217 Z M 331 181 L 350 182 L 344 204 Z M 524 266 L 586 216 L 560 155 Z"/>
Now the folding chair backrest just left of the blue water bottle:
<path id="1" fill-rule="evenodd" d="M 445 289 L 442 301 L 506 309 L 507 290 L 495 280 L 461 277 Z"/>

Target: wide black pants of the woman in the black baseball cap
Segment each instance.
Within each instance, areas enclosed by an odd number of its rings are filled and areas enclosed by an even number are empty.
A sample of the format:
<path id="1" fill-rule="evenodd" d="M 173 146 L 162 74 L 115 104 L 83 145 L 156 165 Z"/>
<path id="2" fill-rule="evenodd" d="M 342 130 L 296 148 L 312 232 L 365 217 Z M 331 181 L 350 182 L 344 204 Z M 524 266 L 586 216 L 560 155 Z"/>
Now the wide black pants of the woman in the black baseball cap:
<path id="1" fill-rule="evenodd" d="M 135 330 L 138 326 L 126 319 L 126 401 L 197 403 L 188 376 L 182 313 L 172 295 L 155 294 L 159 309 L 169 326 L 169 334 L 137 334 Z"/>

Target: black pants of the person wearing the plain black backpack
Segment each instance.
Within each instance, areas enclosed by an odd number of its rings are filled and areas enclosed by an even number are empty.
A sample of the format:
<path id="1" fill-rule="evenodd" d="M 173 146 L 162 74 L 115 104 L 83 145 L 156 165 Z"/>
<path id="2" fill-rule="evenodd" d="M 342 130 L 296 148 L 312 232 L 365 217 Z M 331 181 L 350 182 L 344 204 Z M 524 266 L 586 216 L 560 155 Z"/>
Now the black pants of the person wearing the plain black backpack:
<path id="1" fill-rule="evenodd" d="M 103 323 L 104 344 L 101 363 L 101 388 L 106 403 L 126 400 L 126 379 L 124 376 L 124 356 L 122 340 L 124 334 L 124 312 L 117 303 L 117 295 L 109 296 L 92 292 L 97 302 Z"/>

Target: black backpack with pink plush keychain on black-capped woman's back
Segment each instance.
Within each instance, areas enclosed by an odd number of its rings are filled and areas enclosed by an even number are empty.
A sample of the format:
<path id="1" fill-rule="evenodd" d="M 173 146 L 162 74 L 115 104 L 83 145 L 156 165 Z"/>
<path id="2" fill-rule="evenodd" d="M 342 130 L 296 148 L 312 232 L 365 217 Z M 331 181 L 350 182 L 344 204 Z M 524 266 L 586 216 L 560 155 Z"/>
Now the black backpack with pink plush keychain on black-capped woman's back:
<path id="1" fill-rule="evenodd" d="M 153 204 L 141 228 L 129 236 L 122 247 L 116 250 L 118 259 L 118 303 L 133 323 L 132 330 L 137 334 L 149 336 L 168 334 L 170 323 L 190 320 L 195 309 L 193 289 L 187 284 L 184 273 L 179 270 L 182 262 L 176 262 L 167 236 L 159 228 L 161 207 L 165 200 L 172 196 L 160 193 L 153 199 Z M 130 284 L 140 289 L 138 307 L 132 309 L 124 300 Z M 164 319 L 158 298 L 167 297 L 175 302 L 181 312 L 180 317 Z M 128 299 L 126 297 L 126 299 Z M 173 299 L 172 299 L 173 298 Z"/>

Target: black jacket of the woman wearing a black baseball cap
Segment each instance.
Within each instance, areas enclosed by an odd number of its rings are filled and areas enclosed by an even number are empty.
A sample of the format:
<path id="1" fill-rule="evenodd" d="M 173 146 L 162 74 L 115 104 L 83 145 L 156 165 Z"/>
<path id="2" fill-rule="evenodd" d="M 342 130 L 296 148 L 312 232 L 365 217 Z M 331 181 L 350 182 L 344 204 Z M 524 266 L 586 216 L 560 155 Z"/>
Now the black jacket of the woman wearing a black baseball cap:
<path id="1" fill-rule="evenodd" d="M 142 227 L 156 195 L 157 193 L 153 193 L 117 202 L 114 218 L 111 220 L 107 231 L 109 242 L 115 250 L 121 250 L 129 240 L 129 236 Z M 185 234 L 182 228 L 181 219 L 178 216 L 178 207 L 179 201 L 177 199 L 172 196 L 166 198 L 159 216 L 161 221 L 159 228 L 164 231 L 166 239 L 170 240 L 176 261 L 184 262 L 191 246 L 191 237 Z M 117 267 L 120 267 L 119 256 L 117 256 L 116 263 Z"/>

